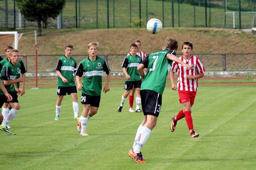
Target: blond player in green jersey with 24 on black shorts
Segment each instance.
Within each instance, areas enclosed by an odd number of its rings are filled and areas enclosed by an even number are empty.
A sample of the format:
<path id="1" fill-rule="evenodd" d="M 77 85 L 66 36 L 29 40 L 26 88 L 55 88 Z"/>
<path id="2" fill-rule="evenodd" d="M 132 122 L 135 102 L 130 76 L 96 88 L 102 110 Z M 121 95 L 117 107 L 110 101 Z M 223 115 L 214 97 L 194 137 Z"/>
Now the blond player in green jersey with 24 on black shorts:
<path id="1" fill-rule="evenodd" d="M 86 132 L 87 121 L 95 115 L 100 106 L 100 94 L 102 90 L 102 71 L 107 74 L 106 84 L 103 92 L 109 91 L 110 69 L 106 61 L 98 57 L 98 43 L 89 43 L 87 52 L 89 57 L 82 60 L 76 70 L 77 89 L 82 91 L 81 103 L 84 105 L 81 117 L 76 119 L 78 126 L 77 130 L 82 136 L 88 136 Z M 80 84 L 80 77 L 84 73 L 84 80 Z"/>

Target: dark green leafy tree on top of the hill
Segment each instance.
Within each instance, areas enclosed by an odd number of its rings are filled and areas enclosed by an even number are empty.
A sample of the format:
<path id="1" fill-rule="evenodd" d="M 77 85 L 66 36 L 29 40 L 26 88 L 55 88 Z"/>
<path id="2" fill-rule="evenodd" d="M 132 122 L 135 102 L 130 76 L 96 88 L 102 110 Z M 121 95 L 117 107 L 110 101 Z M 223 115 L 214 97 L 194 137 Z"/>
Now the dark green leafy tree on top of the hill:
<path id="1" fill-rule="evenodd" d="M 56 18 L 62 11 L 66 0 L 18 0 L 20 13 L 28 21 L 38 22 L 38 35 L 42 35 L 42 22 L 48 18 Z"/>

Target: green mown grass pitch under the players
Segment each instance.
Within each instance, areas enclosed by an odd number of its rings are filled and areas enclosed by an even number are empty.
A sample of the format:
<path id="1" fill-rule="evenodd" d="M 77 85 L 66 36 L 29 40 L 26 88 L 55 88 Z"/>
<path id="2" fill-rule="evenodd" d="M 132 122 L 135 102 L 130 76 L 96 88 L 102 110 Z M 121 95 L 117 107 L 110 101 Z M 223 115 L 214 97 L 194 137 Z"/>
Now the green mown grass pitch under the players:
<path id="1" fill-rule="evenodd" d="M 102 93 L 98 113 L 88 120 L 89 136 L 80 136 L 73 120 L 71 96 L 55 121 L 56 88 L 26 88 L 20 111 L 10 123 L 12 135 L 0 131 L 0 165 L 5 169 L 254 169 L 256 167 L 255 86 L 199 86 L 192 107 L 190 138 L 184 119 L 170 131 L 182 105 L 167 86 L 156 127 L 142 148 L 147 164 L 128 156 L 143 114 L 117 112 L 124 90 Z M 80 91 L 78 92 L 80 98 Z M 80 106 L 79 115 L 82 111 Z"/>

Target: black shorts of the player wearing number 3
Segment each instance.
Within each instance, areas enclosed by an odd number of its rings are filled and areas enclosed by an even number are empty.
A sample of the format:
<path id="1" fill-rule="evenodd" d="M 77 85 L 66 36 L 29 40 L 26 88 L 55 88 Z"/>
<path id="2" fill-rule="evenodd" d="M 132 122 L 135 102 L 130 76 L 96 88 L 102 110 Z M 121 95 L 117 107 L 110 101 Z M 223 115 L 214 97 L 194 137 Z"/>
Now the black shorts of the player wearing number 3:
<path id="1" fill-rule="evenodd" d="M 162 95 L 152 90 L 140 90 L 140 96 L 144 115 L 158 117 L 162 106 Z"/>

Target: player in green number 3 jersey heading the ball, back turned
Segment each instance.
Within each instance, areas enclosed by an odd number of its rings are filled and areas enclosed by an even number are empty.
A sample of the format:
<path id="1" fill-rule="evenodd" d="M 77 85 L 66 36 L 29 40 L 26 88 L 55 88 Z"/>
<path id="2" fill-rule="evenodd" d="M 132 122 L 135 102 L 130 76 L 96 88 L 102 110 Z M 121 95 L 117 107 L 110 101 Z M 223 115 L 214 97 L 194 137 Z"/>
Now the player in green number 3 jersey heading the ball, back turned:
<path id="1" fill-rule="evenodd" d="M 128 154 L 140 164 L 146 164 L 140 150 L 146 143 L 150 132 L 156 126 L 157 117 L 162 105 L 162 94 L 166 85 L 166 77 L 170 71 L 172 62 L 180 63 L 187 69 L 192 68 L 192 66 L 183 63 L 176 57 L 177 49 L 178 41 L 174 38 L 167 37 L 162 51 L 150 54 L 137 68 L 143 79 L 140 95 L 144 120 L 138 127 L 134 145 Z M 143 71 L 144 68 L 148 68 L 146 76 Z"/>

